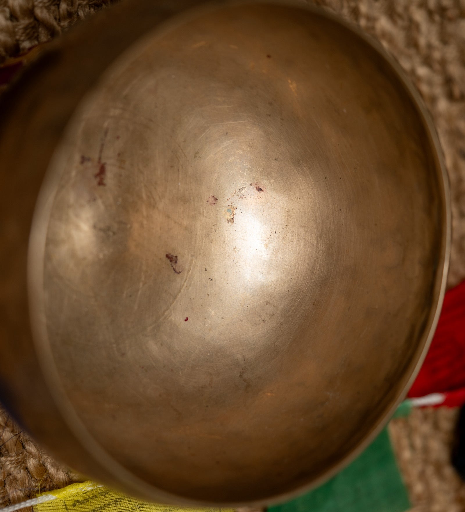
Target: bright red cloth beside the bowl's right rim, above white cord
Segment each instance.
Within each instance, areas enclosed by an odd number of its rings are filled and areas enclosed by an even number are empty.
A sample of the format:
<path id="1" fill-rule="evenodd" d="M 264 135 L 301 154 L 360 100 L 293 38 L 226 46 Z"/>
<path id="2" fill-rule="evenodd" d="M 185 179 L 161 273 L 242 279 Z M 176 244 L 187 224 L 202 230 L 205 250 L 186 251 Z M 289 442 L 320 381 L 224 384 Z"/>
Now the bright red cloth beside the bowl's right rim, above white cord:
<path id="1" fill-rule="evenodd" d="M 449 391 L 455 391 L 450 395 L 455 405 L 465 403 L 465 281 L 446 293 L 433 342 L 408 396 Z"/>

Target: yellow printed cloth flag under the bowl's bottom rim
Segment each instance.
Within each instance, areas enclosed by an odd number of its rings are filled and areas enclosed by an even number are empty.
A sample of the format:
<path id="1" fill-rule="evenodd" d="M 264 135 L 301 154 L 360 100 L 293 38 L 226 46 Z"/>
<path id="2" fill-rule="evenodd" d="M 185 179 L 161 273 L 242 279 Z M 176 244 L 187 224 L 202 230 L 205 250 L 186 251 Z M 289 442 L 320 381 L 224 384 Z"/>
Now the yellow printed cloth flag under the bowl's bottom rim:
<path id="1" fill-rule="evenodd" d="M 44 494 L 56 498 L 34 505 L 34 512 L 233 512 L 231 508 L 190 508 L 150 503 L 91 481 L 74 483 Z"/>

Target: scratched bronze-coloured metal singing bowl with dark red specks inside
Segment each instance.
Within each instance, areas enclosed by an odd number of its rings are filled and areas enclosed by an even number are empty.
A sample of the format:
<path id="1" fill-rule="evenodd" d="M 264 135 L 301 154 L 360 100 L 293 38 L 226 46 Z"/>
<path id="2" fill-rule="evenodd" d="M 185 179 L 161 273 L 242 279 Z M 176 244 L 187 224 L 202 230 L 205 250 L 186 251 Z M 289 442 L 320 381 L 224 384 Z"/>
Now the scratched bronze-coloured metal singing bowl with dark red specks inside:
<path id="1" fill-rule="evenodd" d="M 360 453 L 412 382 L 447 175 L 357 29 L 196 4 L 96 15 L 3 98 L 2 396 L 128 493 L 270 503 Z"/>

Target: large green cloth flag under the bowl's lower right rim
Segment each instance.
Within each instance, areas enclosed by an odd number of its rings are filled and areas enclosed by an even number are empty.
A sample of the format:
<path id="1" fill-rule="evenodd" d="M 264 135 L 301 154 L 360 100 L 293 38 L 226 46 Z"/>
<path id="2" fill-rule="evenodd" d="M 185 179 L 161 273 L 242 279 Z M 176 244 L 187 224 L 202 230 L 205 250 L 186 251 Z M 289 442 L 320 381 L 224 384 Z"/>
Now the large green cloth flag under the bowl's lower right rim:
<path id="1" fill-rule="evenodd" d="M 405 512 L 410 509 L 387 429 L 349 466 L 311 492 L 269 512 Z"/>

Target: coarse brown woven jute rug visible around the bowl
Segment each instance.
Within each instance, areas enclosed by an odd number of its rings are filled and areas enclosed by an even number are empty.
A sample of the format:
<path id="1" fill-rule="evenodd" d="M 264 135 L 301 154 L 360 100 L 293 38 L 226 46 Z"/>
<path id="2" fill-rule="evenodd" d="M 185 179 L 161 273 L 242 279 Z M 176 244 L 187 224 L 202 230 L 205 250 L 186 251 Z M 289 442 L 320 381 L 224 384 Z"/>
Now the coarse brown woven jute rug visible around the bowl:
<path id="1" fill-rule="evenodd" d="M 0 63 L 59 36 L 109 3 L 0 0 Z M 377 37 L 425 99 L 451 182 L 453 241 L 448 285 L 454 286 L 465 278 L 465 0 L 315 3 Z M 465 484 L 450 464 L 456 417 L 455 409 L 422 409 L 391 421 L 389 431 L 415 512 L 465 510 Z M 0 408 L 0 507 L 78 478 L 40 450 Z"/>

